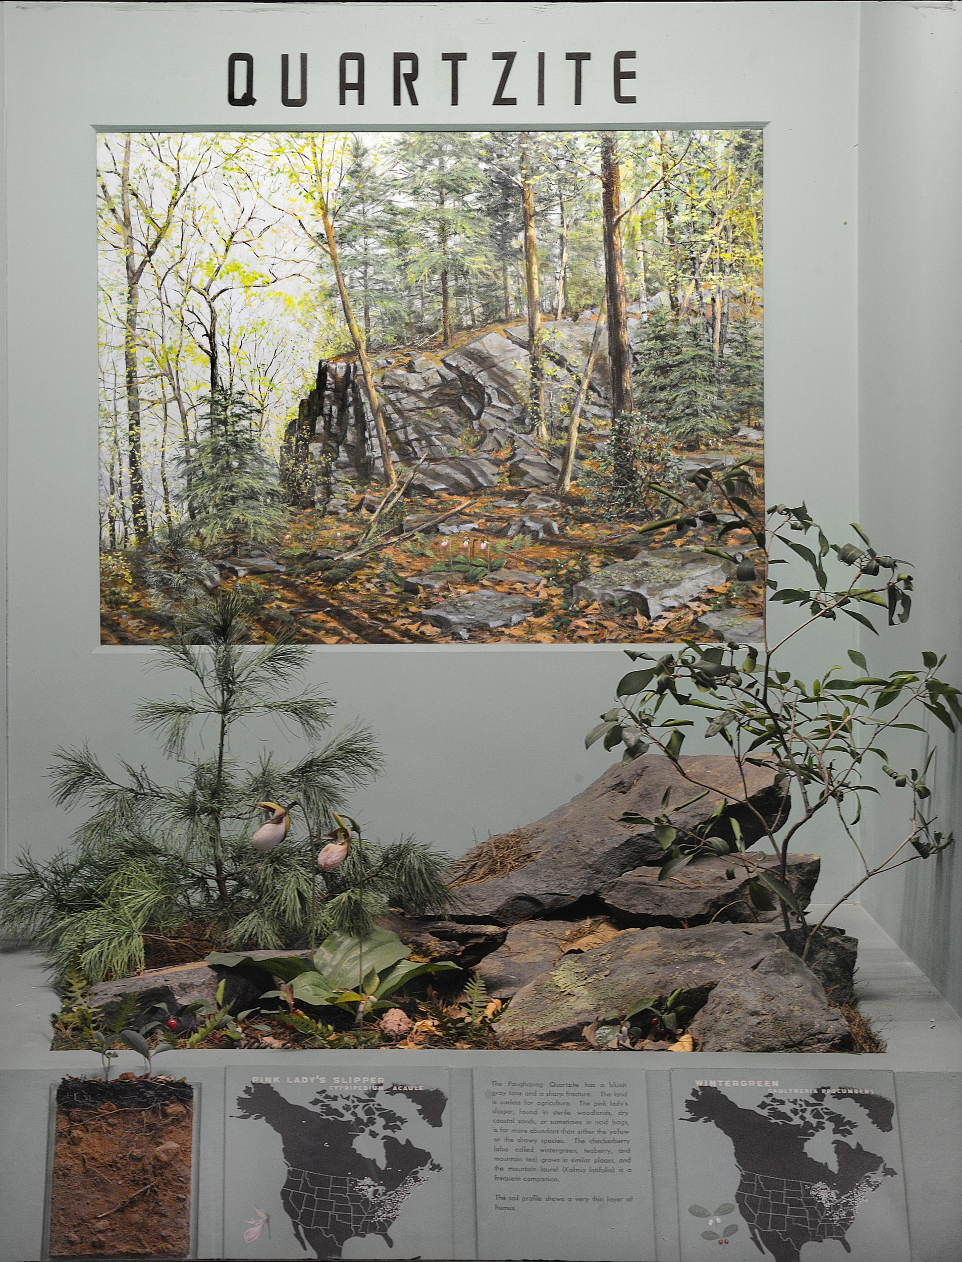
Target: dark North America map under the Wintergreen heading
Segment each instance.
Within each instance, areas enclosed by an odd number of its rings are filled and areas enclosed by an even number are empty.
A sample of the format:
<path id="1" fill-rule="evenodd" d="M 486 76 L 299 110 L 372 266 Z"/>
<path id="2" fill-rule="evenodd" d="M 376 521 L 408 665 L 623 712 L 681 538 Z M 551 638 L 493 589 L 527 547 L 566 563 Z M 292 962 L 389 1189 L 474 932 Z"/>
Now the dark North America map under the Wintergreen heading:
<path id="1" fill-rule="evenodd" d="M 771 1093 L 744 1107 L 718 1087 L 698 1085 L 686 1100 L 682 1121 L 707 1123 L 731 1140 L 735 1201 L 751 1239 L 775 1262 L 799 1262 L 804 1244 L 826 1241 L 851 1253 L 847 1235 L 856 1215 L 864 1205 L 867 1212 L 882 1180 L 896 1175 L 884 1157 L 850 1142 L 865 1124 L 832 1108 L 833 1095 L 842 1094 L 861 1108 L 869 1127 L 893 1129 L 894 1102 L 871 1093 Z"/>

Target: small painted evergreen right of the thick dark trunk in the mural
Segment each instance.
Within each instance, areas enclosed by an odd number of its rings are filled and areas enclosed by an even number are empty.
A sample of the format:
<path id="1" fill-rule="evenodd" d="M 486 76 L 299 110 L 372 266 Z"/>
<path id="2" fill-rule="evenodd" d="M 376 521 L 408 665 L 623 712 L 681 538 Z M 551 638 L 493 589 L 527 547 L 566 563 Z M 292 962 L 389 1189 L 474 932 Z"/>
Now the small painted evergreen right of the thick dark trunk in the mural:
<path id="1" fill-rule="evenodd" d="M 635 400 L 689 451 L 731 434 L 731 406 L 703 322 L 679 321 L 659 308 L 643 326 L 635 352 Z"/>

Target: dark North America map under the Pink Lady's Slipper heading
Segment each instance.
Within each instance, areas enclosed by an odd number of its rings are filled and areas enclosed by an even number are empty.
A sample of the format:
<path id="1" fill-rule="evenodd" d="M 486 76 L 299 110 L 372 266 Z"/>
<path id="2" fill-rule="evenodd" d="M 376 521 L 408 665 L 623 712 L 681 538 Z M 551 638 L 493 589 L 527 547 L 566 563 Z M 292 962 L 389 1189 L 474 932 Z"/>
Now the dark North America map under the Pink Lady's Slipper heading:
<path id="1" fill-rule="evenodd" d="M 318 1092 L 294 1104 L 268 1083 L 237 1098 L 239 1116 L 266 1122 L 280 1136 L 287 1179 L 280 1200 L 294 1235 L 318 1258 L 340 1258 L 347 1241 L 380 1235 L 404 1203 L 442 1167 L 432 1152 L 403 1137 L 404 1117 L 391 1094 L 410 1099 L 422 1119 L 439 1127 L 447 1097 L 439 1090 L 372 1088 L 353 1094 Z M 377 1151 L 377 1157 L 362 1150 Z"/>

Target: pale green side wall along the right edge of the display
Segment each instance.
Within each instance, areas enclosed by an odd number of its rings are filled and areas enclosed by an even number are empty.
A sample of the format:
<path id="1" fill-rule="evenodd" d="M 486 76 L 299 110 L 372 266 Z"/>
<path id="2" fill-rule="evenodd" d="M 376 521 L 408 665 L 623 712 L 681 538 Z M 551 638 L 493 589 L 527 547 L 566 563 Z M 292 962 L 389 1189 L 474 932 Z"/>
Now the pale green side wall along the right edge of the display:
<path id="1" fill-rule="evenodd" d="M 881 551 L 915 565 L 912 621 L 872 661 L 947 652 L 962 684 L 962 13 L 867 4 L 858 126 L 860 498 Z M 866 635 L 866 640 L 872 637 Z M 914 659 L 914 661 L 913 661 Z M 933 724 L 939 728 L 938 723 Z M 935 801 L 962 835 L 958 748 L 939 734 Z M 876 862 L 904 838 L 888 799 L 862 837 Z M 949 852 L 867 885 L 864 904 L 962 1007 L 962 862 Z"/>

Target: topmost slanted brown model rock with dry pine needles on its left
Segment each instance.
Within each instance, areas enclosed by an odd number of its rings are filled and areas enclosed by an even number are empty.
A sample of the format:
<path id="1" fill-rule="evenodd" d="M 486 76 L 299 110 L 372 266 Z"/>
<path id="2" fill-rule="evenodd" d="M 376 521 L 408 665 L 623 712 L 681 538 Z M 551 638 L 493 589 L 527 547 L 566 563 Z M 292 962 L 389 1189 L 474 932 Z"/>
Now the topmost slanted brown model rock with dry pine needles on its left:
<path id="1" fill-rule="evenodd" d="M 720 801 L 728 801 L 727 811 L 739 820 L 749 843 L 764 832 L 759 815 L 774 825 L 787 809 L 785 794 L 768 767 L 745 767 L 745 800 L 735 758 L 694 755 L 683 757 L 680 764 L 696 785 L 662 756 L 617 762 L 529 828 L 489 838 L 468 851 L 456 864 L 462 906 L 452 919 L 502 925 L 531 920 L 598 893 L 640 864 L 658 863 L 662 848 L 651 827 L 624 823 L 620 817 L 631 810 L 654 818 L 663 809 L 662 798 L 668 789 L 670 801 L 682 804 L 701 793 L 701 786 L 710 786 L 703 798 L 674 813 L 675 827 L 691 829 L 703 824 Z M 514 844 L 514 864 L 511 848 L 505 844 L 511 837 L 520 838 Z M 489 871 L 504 875 L 489 876 Z"/>

